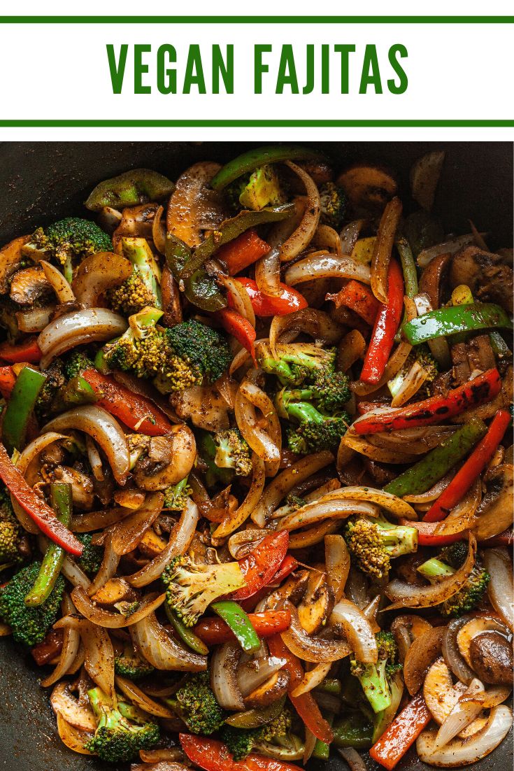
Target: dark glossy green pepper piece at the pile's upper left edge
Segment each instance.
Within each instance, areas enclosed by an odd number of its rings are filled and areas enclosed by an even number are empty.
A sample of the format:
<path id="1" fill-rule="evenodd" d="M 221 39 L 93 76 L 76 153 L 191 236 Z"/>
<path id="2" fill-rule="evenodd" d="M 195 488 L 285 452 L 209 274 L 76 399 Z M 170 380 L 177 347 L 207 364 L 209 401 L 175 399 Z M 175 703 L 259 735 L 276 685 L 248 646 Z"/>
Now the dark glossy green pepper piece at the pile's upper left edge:
<path id="1" fill-rule="evenodd" d="M 86 209 L 99 211 L 104 206 L 123 209 L 170 196 L 175 185 L 163 174 L 151 169 L 133 169 L 96 185 L 86 200 Z"/>

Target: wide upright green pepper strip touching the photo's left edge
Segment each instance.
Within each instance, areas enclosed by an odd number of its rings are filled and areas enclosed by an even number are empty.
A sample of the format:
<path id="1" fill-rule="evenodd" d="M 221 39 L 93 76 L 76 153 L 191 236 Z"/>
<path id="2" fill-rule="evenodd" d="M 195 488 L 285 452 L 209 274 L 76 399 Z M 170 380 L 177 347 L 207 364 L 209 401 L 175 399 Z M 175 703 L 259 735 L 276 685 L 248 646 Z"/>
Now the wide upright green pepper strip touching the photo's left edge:
<path id="1" fill-rule="evenodd" d="M 2 424 L 2 441 L 8 453 L 24 449 L 29 420 L 45 380 L 46 375 L 32 367 L 24 367 L 16 378 Z"/>

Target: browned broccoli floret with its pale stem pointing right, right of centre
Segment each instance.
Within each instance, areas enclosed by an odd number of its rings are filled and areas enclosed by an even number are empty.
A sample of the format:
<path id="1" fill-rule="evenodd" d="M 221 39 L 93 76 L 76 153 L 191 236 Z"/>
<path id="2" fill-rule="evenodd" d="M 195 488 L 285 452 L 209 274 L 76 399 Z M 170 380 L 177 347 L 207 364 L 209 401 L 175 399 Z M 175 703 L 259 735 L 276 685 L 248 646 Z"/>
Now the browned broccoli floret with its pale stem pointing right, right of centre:
<path id="1" fill-rule="evenodd" d="M 344 540 L 357 567 L 382 578 L 389 572 L 391 558 L 418 549 L 418 530 L 391 524 L 384 517 L 351 517 L 344 528 Z"/>

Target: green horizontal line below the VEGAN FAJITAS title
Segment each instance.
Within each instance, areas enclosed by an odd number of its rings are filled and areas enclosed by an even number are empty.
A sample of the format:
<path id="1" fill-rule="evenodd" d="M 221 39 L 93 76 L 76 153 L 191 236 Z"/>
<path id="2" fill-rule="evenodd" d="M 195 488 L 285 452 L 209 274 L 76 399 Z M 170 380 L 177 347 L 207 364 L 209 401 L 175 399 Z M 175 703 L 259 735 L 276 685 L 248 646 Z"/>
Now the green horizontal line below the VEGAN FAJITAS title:
<path id="1" fill-rule="evenodd" d="M 0 128 L 511 128 L 514 120 L 0 120 Z"/>

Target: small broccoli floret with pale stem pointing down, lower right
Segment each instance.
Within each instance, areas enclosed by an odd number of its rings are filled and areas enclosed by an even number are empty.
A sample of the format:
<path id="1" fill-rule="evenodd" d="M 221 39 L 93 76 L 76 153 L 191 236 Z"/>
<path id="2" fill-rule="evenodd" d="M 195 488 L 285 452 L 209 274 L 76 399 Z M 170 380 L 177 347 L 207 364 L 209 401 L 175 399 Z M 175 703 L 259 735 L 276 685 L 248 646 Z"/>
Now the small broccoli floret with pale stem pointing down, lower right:
<path id="1" fill-rule="evenodd" d="M 362 662 L 350 662 L 350 672 L 358 678 L 366 699 L 373 712 L 381 712 L 391 704 L 391 687 L 389 677 L 398 672 L 401 665 L 397 662 L 398 648 L 395 638 L 389 631 L 379 631 L 375 635 L 378 647 L 378 662 L 376 664 L 363 664 Z"/>

